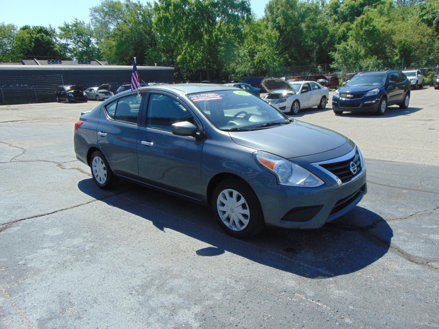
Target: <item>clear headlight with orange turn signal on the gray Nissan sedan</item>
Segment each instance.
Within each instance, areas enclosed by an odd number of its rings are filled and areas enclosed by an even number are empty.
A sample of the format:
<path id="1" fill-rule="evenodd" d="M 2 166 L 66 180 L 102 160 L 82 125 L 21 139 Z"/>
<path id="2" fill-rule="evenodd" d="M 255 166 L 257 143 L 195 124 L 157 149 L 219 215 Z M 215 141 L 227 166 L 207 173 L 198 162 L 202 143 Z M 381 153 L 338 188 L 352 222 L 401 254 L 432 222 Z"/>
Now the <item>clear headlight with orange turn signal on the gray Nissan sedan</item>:
<path id="1" fill-rule="evenodd" d="M 283 157 L 263 151 L 256 151 L 253 153 L 253 158 L 257 164 L 260 164 L 263 168 L 276 175 L 280 185 L 317 187 L 324 184 L 322 180 L 299 166 L 299 164 L 295 164 Z"/>

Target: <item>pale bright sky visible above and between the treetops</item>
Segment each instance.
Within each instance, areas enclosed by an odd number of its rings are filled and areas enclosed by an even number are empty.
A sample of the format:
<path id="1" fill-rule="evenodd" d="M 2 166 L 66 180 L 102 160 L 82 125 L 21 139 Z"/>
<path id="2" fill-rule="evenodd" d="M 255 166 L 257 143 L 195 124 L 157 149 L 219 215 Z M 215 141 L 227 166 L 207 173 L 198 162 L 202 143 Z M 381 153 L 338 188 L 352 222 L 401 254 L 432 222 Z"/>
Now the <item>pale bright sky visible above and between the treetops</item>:
<path id="1" fill-rule="evenodd" d="M 142 3 L 146 2 L 144 0 Z M 152 1 L 150 1 L 152 2 Z M 23 25 L 49 24 L 55 28 L 64 21 L 71 22 L 75 18 L 89 22 L 89 8 L 101 3 L 101 0 L 74 0 L 61 3 L 56 0 L 0 0 L 0 23 L 14 24 L 18 28 Z M 262 17 L 268 0 L 250 0 L 252 11 Z M 34 5 L 32 5 L 34 4 Z"/>

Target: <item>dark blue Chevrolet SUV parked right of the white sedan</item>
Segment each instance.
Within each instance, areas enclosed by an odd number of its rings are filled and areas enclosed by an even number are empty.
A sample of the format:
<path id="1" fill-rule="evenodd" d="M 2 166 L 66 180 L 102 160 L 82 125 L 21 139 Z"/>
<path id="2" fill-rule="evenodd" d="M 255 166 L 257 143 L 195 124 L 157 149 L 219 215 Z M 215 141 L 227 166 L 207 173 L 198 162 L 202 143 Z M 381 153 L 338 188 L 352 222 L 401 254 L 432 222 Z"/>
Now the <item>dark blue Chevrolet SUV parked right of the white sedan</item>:
<path id="1" fill-rule="evenodd" d="M 332 110 L 335 114 L 367 111 L 383 115 L 390 105 L 405 109 L 410 102 L 410 86 L 410 81 L 398 70 L 361 72 L 335 91 Z"/>

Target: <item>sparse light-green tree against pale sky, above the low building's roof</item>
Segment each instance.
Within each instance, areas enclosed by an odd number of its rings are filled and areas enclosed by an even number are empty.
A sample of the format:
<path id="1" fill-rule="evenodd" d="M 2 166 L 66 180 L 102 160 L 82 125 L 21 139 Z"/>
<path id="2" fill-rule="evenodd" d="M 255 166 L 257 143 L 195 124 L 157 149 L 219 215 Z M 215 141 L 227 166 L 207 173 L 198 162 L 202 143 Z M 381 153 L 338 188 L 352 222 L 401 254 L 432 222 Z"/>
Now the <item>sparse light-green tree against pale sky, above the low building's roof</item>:
<path id="1" fill-rule="evenodd" d="M 68 56 L 78 59 L 101 59 L 101 50 L 93 37 L 93 29 L 90 24 L 77 18 L 72 23 L 64 22 L 59 28 L 58 37 L 67 48 Z"/>

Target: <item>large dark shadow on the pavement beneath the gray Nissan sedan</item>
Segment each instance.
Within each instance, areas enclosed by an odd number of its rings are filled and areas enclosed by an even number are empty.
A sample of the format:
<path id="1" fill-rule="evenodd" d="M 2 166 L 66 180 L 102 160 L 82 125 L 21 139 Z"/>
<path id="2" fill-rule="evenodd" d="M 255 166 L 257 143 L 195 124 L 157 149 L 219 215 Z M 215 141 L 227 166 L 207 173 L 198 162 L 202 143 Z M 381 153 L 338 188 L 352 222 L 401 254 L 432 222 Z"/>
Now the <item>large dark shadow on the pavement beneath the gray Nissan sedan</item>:
<path id="1" fill-rule="evenodd" d="M 158 234 L 171 229 L 211 245 L 193 250 L 200 257 L 230 252 L 310 279 L 349 274 L 371 265 L 387 253 L 393 236 L 379 215 L 357 206 L 320 229 L 266 228 L 252 239 L 238 240 L 223 232 L 211 209 L 201 204 L 130 182 L 122 182 L 110 192 L 100 190 L 92 179 L 80 181 L 78 187 L 100 202 L 138 216 L 140 221 L 152 222 L 161 231 Z M 142 234 L 139 228 L 135 231 Z"/>

